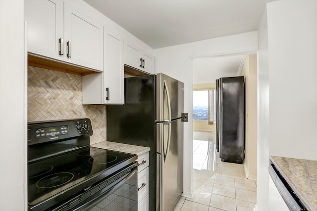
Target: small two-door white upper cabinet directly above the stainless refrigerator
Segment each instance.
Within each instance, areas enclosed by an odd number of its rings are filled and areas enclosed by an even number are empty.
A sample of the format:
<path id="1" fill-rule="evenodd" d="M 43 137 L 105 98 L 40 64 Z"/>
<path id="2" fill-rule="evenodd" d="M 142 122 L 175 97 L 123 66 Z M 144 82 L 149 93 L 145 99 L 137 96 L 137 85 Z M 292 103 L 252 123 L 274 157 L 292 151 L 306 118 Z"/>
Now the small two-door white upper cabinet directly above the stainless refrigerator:
<path id="1" fill-rule="evenodd" d="M 124 44 L 124 64 L 154 74 L 153 55 L 131 42 L 125 42 Z"/>

